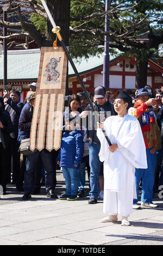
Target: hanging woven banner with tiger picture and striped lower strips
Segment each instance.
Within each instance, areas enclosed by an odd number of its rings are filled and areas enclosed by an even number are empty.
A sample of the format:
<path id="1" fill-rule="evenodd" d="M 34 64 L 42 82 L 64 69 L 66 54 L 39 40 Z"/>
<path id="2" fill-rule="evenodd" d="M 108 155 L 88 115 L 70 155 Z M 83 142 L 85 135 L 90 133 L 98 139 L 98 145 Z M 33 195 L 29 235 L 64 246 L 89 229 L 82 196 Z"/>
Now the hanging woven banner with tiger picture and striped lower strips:
<path id="1" fill-rule="evenodd" d="M 62 47 L 42 47 L 30 149 L 58 150 L 65 102 L 67 56 Z"/>

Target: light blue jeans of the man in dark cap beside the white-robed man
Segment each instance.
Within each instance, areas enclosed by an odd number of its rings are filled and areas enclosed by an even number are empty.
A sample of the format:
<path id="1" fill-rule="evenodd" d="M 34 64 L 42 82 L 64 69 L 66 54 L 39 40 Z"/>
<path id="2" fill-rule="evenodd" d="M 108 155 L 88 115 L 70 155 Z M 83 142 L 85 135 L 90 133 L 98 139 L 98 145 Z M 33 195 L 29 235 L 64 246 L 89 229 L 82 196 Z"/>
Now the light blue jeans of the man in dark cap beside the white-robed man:
<path id="1" fill-rule="evenodd" d="M 101 144 L 92 143 L 89 147 L 89 161 L 90 161 L 90 186 L 91 191 L 89 192 L 90 198 L 97 199 L 99 195 L 99 171 L 101 162 L 99 161 L 99 150 Z"/>

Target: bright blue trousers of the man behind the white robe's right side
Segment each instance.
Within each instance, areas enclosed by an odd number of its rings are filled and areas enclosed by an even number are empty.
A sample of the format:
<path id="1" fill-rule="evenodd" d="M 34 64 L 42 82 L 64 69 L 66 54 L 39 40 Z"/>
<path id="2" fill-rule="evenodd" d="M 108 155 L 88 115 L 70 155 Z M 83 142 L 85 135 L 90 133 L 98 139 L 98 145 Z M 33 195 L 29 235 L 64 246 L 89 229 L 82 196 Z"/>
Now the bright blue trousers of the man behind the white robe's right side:
<path id="1" fill-rule="evenodd" d="M 134 199 L 134 204 L 138 201 L 139 196 L 139 184 L 142 178 L 142 203 L 152 203 L 153 198 L 153 185 L 155 179 L 155 166 L 156 166 L 156 153 L 151 154 L 149 151 L 151 149 L 146 149 L 147 154 L 147 169 L 137 169 L 135 168 L 135 186 L 137 199 Z"/>

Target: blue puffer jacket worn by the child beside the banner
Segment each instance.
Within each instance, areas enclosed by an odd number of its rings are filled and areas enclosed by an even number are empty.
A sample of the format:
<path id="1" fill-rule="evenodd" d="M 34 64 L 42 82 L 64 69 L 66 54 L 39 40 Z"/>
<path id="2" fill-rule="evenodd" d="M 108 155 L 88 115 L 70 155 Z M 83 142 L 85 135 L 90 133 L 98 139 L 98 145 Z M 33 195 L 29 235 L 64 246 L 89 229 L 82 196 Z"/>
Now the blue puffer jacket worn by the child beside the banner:
<path id="1" fill-rule="evenodd" d="M 61 148 L 57 157 L 60 167 L 79 168 L 84 154 L 83 134 L 80 130 L 65 131 L 61 139 Z M 74 167 L 77 164 L 78 167 Z"/>

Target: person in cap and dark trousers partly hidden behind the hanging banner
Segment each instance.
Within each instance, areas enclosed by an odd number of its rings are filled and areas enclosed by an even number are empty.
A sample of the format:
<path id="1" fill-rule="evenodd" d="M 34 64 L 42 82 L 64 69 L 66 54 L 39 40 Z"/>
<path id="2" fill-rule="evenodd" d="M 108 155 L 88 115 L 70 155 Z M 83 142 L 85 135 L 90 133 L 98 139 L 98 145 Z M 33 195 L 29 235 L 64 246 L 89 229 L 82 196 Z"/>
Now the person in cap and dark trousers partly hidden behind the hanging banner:
<path id="1" fill-rule="evenodd" d="M 36 98 L 36 93 L 32 92 L 29 98 L 30 105 L 32 106 L 24 110 L 20 120 L 20 124 L 19 124 L 20 131 L 27 132 L 26 138 L 30 137 L 30 127 L 32 124 L 35 98 Z M 36 151 L 36 153 L 30 154 L 27 156 L 26 171 L 24 173 L 24 195 L 22 197 L 23 200 L 30 199 L 32 191 L 35 191 L 38 189 L 38 184 L 33 184 L 33 180 L 34 180 L 34 176 L 36 175 L 36 171 L 37 171 L 36 166 L 37 166 L 39 157 L 41 157 L 43 166 L 45 167 L 45 186 L 46 186 L 47 197 L 57 198 L 57 195 L 54 193 L 54 188 L 57 184 L 54 159 L 57 156 L 55 157 L 54 150 L 49 152 L 46 149 L 42 149 L 41 151 Z M 40 173 L 40 178 L 41 178 L 41 173 Z M 39 185 L 40 185 L 40 182 L 39 182 Z"/>

